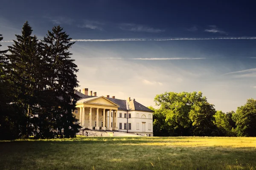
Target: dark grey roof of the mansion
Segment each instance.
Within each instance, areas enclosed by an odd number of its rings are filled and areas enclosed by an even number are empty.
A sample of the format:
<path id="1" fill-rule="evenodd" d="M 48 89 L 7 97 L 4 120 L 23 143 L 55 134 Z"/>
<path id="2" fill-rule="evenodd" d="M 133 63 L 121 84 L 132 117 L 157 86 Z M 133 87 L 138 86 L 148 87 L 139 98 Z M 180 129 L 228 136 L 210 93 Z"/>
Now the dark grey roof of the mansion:
<path id="1" fill-rule="evenodd" d="M 75 91 L 75 94 L 80 97 L 80 99 L 77 101 L 77 103 L 87 102 L 93 99 L 97 99 L 100 96 L 87 96 L 82 94 L 79 91 Z M 104 96 L 103 96 L 104 97 Z M 145 107 L 144 105 L 140 104 L 139 102 L 135 101 L 134 99 L 128 102 L 128 107 L 126 107 L 126 100 L 122 99 L 113 99 L 111 97 L 105 97 L 106 99 L 110 100 L 111 102 L 115 103 L 116 105 L 119 105 L 118 110 L 121 111 L 147 111 L 147 112 L 154 112 L 151 109 Z"/>

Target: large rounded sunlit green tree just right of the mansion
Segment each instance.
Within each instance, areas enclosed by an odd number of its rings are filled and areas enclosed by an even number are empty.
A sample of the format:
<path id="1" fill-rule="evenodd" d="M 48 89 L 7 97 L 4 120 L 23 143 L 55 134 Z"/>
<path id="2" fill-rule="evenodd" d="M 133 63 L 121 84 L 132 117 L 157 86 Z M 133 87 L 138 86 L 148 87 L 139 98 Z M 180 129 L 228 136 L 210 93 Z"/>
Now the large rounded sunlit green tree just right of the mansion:
<path id="1" fill-rule="evenodd" d="M 213 124 L 215 109 L 199 91 L 187 93 L 169 92 L 157 95 L 154 99 L 160 106 L 158 113 L 165 117 L 170 129 L 178 136 L 214 136 L 216 127 Z M 156 111 L 157 113 L 157 111 Z M 158 115 L 158 117 L 160 117 Z"/>

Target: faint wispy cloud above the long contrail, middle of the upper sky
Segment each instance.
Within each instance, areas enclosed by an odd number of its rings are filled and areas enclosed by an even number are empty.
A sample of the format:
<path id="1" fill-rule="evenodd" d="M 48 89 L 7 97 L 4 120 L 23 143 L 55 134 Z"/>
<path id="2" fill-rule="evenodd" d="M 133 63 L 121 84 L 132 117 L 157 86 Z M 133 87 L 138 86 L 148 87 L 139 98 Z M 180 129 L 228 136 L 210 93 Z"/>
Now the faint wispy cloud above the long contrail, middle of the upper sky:
<path id="1" fill-rule="evenodd" d="M 149 32 L 149 33 L 160 33 L 160 32 L 165 31 L 163 29 L 157 29 L 157 28 L 152 28 L 152 27 L 137 25 L 137 24 L 131 24 L 131 23 L 120 24 L 119 28 L 124 31 Z"/>

